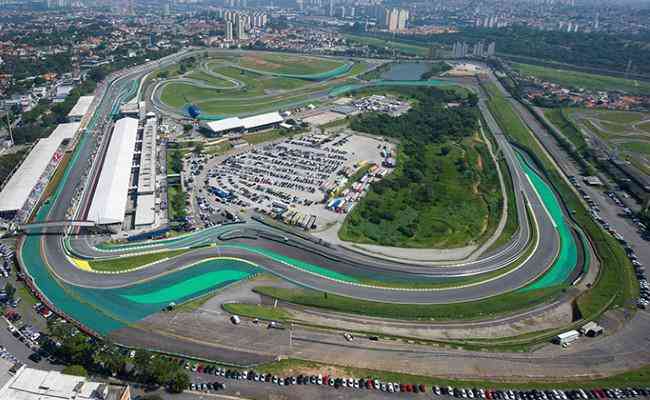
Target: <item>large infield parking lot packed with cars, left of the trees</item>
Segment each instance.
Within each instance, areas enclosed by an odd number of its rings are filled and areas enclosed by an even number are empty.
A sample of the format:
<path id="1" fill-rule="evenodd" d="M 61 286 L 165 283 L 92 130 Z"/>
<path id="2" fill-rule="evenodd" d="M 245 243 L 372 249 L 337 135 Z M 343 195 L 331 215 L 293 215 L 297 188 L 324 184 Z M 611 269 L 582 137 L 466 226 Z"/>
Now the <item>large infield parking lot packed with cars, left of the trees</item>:
<path id="1" fill-rule="evenodd" d="M 191 169 L 199 214 L 256 211 L 305 229 L 342 220 L 394 167 L 395 146 L 346 130 L 308 133 Z"/>

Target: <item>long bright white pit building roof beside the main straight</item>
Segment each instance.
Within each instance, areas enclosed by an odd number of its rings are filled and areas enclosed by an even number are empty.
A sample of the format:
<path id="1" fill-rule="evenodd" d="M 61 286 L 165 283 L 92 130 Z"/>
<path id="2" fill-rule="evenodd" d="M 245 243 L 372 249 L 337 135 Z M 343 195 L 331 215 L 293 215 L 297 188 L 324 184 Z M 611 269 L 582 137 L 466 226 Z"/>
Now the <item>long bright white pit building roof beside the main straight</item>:
<path id="1" fill-rule="evenodd" d="M 89 221 L 117 224 L 124 220 L 137 134 L 137 119 L 127 117 L 115 123 L 88 211 Z"/>

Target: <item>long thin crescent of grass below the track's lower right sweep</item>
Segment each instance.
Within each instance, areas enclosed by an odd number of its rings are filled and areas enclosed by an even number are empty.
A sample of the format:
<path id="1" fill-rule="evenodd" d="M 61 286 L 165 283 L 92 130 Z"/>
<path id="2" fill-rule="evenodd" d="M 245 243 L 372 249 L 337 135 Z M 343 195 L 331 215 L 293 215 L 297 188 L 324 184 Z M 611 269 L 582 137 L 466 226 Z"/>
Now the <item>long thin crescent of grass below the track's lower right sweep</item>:
<path id="1" fill-rule="evenodd" d="M 369 317 L 406 320 L 471 320 L 493 315 L 512 313 L 547 301 L 562 292 L 561 287 L 513 292 L 482 301 L 456 304 L 392 304 L 352 299 L 308 290 L 280 289 L 269 286 L 256 287 L 254 291 L 294 304 L 323 308 Z"/>

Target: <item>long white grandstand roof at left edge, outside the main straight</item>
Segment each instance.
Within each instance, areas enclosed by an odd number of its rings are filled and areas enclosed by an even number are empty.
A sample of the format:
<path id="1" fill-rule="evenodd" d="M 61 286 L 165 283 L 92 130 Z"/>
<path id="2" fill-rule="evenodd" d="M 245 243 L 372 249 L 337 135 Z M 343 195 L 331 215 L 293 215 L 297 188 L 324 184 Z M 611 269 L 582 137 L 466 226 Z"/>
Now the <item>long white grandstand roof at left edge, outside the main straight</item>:
<path id="1" fill-rule="evenodd" d="M 17 211 L 23 207 L 61 142 L 72 138 L 78 128 L 78 122 L 61 124 L 49 137 L 39 140 L 32 147 L 23 163 L 0 192 L 0 212 Z"/>

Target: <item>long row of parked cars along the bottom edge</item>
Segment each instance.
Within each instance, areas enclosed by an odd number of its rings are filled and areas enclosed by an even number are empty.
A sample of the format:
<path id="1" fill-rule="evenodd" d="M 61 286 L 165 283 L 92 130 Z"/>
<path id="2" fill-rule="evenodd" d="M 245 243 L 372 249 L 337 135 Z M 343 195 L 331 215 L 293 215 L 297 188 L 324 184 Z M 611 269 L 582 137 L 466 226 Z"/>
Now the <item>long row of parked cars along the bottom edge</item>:
<path id="1" fill-rule="evenodd" d="M 453 388 L 451 386 L 427 386 L 423 383 L 384 382 L 376 378 L 340 378 L 328 375 L 298 375 L 280 377 L 269 373 L 255 371 L 238 371 L 217 366 L 204 366 L 199 363 L 186 362 L 185 368 L 193 372 L 220 376 L 226 379 L 248 380 L 253 382 L 271 383 L 279 386 L 290 385 L 321 385 L 335 389 L 366 389 L 379 390 L 389 393 L 432 393 L 437 396 L 453 396 L 461 399 L 485 400 L 606 400 L 625 399 L 640 396 L 650 396 L 649 388 L 607 388 L 607 389 L 574 389 L 574 390 L 495 390 L 477 388 Z M 225 384 L 192 383 L 188 389 L 198 391 L 221 390 Z"/>

